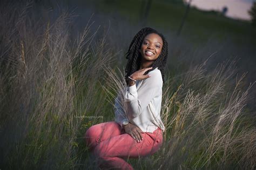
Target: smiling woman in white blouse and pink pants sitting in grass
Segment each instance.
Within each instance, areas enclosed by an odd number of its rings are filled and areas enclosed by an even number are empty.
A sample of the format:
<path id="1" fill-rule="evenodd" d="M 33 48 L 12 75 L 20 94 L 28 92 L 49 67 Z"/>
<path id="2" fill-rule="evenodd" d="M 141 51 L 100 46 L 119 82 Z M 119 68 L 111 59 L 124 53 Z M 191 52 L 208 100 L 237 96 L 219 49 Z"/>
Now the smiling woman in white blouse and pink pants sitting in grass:
<path id="1" fill-rule="evenodd" d="M 163 142 L 160 118 L 167 42 L 161 33 L 143 28 L 126 53 L 126 84 L 115 100 L 115 121 L 91 126 L 86 144 L 101 169 L 133 169 L 124 159 L 151 155 Z M 123 101 L 123 102 L 122 102 Z"/>

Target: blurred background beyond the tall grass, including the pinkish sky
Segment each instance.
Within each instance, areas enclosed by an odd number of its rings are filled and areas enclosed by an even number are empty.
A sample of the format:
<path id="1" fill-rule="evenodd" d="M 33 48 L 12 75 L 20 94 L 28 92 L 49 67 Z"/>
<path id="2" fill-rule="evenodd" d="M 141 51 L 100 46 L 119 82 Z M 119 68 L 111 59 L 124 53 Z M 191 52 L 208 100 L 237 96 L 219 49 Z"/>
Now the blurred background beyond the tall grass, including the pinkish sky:
<path id="1" fill-rule="evenodd" d="M 117 52 L 120 65 L 126 64 L 124 54 L 133 36 L 144 26 L 150 26 L 162 32 L 169 42 L 167 70 L 172 76 L 211 56 L 207 69 L 225 60 L 235 60 L 238 76 L 247 73 L 245 86 L 256 80 L 256 7 L 253 0 L 35 2 L 41 11 L 72 12 L 75 15 L 72 32 L 82 30 L 91 18 L 92 30 L 98 30 L 99 37 L 107 37 L 107 43 Z M 253 108 L 255 95 L 255 90 L 251 91 L 249 103 Z"/>

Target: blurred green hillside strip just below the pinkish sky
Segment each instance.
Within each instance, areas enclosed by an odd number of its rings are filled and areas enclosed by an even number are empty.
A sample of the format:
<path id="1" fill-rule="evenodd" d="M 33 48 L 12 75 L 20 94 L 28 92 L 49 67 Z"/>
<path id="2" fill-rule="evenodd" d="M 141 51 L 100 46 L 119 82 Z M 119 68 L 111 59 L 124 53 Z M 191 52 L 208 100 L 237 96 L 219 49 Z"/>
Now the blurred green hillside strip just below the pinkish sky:
<path id="1" fill-rule="evenodd" d="M 128 18 L 133 24 L 138 24 L 144 15 L 147 1 L 100 1 L 103 12 L 115 13 Z M 146 25 L 162 28 L 165 31 L 176 33 L 184 17 L 186 6 L 166 1 L 152 1 Z M 220 39 L 234 38 L 236 43 L 244 39 L 243 43 L 256 43 L 256 30 L 249 22 L 237 21 L 221 16 L 217 12 L 204 12 L 191 8 L 182 34 L 198 43 L 205 43 L 208 36 L 215 35 Z"/>

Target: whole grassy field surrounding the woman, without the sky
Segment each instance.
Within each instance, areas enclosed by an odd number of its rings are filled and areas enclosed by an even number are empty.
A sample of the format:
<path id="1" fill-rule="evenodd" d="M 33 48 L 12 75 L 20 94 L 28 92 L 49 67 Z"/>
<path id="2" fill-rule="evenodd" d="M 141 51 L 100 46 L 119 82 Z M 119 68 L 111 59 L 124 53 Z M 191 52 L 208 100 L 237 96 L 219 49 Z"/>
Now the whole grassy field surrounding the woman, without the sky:
<path id="1" fill-rule="evenodd" d="M 146 25 L 163 32 L 170 51 L 165 141 L 156 154 L 127 161 L 134 169 L 254 169 L 255 28 L 191 9 L 177 36 L 185 7 L 154 3 L 166 17 L 153 10 Z M 134 4 L 2 2 L 1 169 L 96 169 L 84 133 L 113 121 L 124 53 L 142 27 Z"/>

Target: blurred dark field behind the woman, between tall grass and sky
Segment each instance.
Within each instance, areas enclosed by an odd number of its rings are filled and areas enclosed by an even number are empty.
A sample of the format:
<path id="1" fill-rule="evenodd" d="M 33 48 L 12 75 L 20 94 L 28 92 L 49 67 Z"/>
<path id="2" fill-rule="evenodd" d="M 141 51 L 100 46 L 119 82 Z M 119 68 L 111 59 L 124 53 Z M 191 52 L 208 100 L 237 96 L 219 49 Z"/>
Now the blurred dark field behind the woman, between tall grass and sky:
<path id="1" fill-rule="evenodd" d="M 143 25 L 140 18 L 145 12 L 142 12 L 142 9 L 145 8 L 146 2 L 102 0 L 93 3 L 99 13 L 104 13 L 102 23 L 107 21 L 105 24 L 110 25 L 109 40 L 115 48 L 123 50 L 118 57 L 121 58 L 120 62 L 123 62 L 122 57 L 129 46 L 124 42 L 129 42 L 132 39 L 131 35 L 142 26 L 151 26 L 162 32 L 169 42 L 167 70 L 171 77 L 184 73 L 191 65 L 200 64 L 210 57 L 207 70 L 213 69 L 225 60 L 236 60 L 238 75 L 247 72 L 245 84 L 248 86 L 255 81 L 256 29 L 250 22 L 192 8 L 185 19 L 180 36 L 177 36 L 186 6 L 168 1 L 152 1 L 149 16 Z M 100 17 L 95 16 L 96 21 L 98 18 Z M 115 43 L 120 37 L 124 42 Z M 248 102 L 253 110 L 256 109 L 255 95 L 256 90 L 252 90 L 250 98 L 253 99 Z"/>

